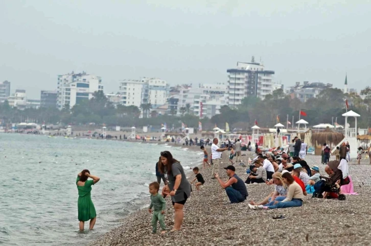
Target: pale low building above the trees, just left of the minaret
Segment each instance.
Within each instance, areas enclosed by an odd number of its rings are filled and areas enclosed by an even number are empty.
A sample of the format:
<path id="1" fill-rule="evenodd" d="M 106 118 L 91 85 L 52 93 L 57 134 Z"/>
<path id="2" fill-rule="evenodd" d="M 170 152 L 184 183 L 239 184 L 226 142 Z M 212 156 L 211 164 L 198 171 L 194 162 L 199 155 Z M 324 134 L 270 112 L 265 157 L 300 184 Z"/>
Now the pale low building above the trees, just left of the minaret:
<path id="1" fill-rule="evenodd" d="M 304 81 L 303 84 L 296 82 L 294 86 L 288 87 L 286 93 L 290 94 L 291 98 L 296 97 L 301 102 L 305 103 L 309 99 L 316 97 L 326 88 L 332 88 L 332 84 L 324 84 L 320 82 L 309 83 L 308 81 Z"/>

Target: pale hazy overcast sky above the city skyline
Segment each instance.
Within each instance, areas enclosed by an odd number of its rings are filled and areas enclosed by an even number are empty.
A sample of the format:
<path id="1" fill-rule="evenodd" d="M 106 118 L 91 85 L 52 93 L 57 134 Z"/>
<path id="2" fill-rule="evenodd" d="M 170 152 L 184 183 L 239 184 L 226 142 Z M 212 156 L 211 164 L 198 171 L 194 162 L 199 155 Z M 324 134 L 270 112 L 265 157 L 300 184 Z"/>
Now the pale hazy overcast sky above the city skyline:
<path id="1" fill-rule="evenodd" d="M 371 84 L 371 1 L 2 0 L 0 81 L 29 99 L 71 71 L 171 85 L 226 83 L 254 56 L 274 82 Z"/>

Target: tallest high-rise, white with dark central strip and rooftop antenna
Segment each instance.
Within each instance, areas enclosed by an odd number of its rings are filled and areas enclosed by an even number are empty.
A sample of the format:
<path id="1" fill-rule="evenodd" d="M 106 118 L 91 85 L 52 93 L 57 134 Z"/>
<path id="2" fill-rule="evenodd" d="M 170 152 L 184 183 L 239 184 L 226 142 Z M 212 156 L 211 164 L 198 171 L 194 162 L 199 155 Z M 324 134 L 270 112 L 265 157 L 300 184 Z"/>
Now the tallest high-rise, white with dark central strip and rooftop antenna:
<path id="1" fill-rule="evenodd" d="M 246 96 L 261 99 L 273 92 L 274 71 L 265 70 L 262 62 L 237 62 L 237 68 L 227 69 L 229 105 L 239 105 Z"/>

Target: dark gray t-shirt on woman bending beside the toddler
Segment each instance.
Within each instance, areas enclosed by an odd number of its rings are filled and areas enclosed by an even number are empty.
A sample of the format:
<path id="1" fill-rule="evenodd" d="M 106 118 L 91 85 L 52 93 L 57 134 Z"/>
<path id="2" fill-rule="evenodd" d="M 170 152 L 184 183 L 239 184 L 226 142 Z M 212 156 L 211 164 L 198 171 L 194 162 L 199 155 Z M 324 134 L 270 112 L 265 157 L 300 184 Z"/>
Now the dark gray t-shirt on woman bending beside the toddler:
<path id="1" fill-rule="evenodd" d="M 181 175 L 181 181 L 175 195 L 171 197 L 171 201 L 174 203 L 184 201 L 184 193 L 187 194 L 187 198 L 189 198 L 192 191 L 191 184 L 184 174 L 183 167 L 178 162 L 173 163 L 171 166 L 171 173 L 168 174 L 170 190 L 174 189 L 175 176 L 177 175 Z"/>

